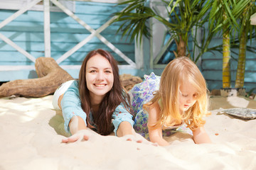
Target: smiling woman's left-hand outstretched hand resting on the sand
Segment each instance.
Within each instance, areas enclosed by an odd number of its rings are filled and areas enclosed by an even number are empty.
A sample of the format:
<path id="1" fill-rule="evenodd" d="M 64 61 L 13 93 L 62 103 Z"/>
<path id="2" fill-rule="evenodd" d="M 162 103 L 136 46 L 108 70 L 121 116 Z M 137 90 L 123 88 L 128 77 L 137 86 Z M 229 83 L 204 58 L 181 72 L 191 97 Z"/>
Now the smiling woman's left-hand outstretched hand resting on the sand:
<path id="1" fill-rule="evenodd" d="M 78 130 L 74 135 L 70 137 L 66 137 L 65 139 L 62 140 L 63 143 L 68 143 L 68 142 L 76 142 L 78 140 L 89 140 L 90 137 L 92 137 L 92 132 L 90 130 Z"/>

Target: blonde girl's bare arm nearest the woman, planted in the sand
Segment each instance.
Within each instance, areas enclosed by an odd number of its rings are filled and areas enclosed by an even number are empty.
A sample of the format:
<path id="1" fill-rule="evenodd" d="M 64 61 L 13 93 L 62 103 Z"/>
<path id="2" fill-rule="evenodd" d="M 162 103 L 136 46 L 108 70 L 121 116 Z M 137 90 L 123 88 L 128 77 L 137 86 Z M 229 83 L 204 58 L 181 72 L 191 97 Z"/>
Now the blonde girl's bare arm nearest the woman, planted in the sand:
<path id="1" fill-rule="evenodd" d="M 149 139 L 151 142 L 156 142 L 160 146 L 166 146 L 169 145 L 169 142 L 164 140 L 163 134 L 162 134 L 162 128 L 156 128 L 152 129 L 150 125 L 155 125 L 157 120 L 159 120 L 159 114 L 160 114 L 160 108 L 158 103 L 152 104 L 148 108 L 148 113 L 149 113 L 149 120 L 148 120 L 148 128 L 149 128 Z"/>

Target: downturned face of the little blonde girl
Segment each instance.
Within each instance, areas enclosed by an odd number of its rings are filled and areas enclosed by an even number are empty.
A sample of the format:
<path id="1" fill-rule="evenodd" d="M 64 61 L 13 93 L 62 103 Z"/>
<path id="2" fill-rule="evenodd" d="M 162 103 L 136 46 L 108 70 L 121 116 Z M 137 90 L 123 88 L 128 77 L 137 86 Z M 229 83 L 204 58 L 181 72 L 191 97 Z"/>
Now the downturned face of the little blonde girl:
<path id="1" fill-rule="evenodd" d="M 196 103 L 198 96 L 196 89 L 190 83 L 183 83 L 180 86 L 179 109 L 181 113 L 188 111 Z"/>

